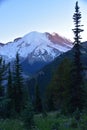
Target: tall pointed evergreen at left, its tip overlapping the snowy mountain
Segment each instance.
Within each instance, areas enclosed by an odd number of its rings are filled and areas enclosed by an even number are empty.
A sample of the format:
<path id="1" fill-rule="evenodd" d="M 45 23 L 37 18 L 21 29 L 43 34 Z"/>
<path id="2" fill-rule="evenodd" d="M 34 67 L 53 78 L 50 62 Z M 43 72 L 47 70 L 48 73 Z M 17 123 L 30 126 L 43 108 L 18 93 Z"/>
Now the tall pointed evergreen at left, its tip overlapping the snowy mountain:
<path id="1" fill-rule="evenodd" d="M 16 61 L 14 64 L 13 80 L 14 108 L 17 113 L 20 113 L 24 107 L 24 80 L 18 53 L 16 54 Z"/>

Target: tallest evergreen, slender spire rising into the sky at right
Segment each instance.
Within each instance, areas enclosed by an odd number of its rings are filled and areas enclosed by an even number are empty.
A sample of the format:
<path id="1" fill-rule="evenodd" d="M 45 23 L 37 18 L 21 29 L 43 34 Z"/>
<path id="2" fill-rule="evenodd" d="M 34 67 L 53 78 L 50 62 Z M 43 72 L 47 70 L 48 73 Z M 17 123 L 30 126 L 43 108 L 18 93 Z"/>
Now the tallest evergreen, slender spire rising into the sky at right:
<path id="1" fill-rule="evenodd" d="M 75 24 L 74 32 L 74 60 L 72 68 L 72 88 L 71 88 L 71 99 L 70 99 L 70 111 L 76 111 L 77 108 L 81 110 L 84 105 L 84 87 L 83 87 L 83 66 L 81 63 L 81 12 L 79 11 L 78 2 L 75 5 L 75 13 L 73 15 Z"/>

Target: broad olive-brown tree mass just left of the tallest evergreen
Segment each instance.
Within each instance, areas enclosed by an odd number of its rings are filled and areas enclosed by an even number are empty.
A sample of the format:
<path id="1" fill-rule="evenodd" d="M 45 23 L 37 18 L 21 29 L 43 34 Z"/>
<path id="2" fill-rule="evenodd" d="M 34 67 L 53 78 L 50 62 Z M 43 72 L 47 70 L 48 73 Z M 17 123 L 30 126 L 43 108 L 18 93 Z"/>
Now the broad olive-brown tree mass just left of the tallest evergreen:
<path id="1" fill-rule="evenodd" d="M 47 103 L 49 109 L 66 109 L 70 96 L 71 85 L 71 61 L 64 59 L 56 73 L 53 80 L 47 89 Z"/>

